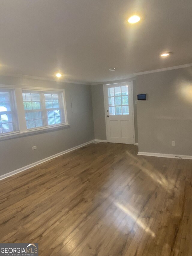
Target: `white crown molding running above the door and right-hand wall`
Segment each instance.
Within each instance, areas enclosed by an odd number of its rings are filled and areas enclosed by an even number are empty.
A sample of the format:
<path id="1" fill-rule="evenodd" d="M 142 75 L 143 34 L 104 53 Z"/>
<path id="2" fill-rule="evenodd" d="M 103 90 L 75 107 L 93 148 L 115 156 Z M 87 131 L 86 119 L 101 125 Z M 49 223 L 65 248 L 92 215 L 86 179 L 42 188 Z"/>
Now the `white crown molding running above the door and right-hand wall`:
<path id="1" fill-rule="evenodd" d="M 168 67 L 168 68 L 160 68 L 160 69 L 154 69 L 154 70 L 149 70 L 149 71 L 138 72 L 138 73 L 134 73 L 134 74 L 128 75 L 127 79 L 114 80 L 114 81 L 104 81 L 104 82 L 96 82 L 96 83 L 91 83 L 91 85 L 123 83 L 123 82 L 128 82 L 130 80 L 135 80 L 135 77 L 136 76 L 140 76 L 140 75 L 151 74 L 151 73 L 162 72 L 162 71 L 168 71 L 168 70 L 173 70 L 173 69 L 178 69 L 178 68 L 188 68 L 188 67 L 192 67 L 192 63 L 184 64 L 184 65 L 179 65 L 179 66 Z"/>

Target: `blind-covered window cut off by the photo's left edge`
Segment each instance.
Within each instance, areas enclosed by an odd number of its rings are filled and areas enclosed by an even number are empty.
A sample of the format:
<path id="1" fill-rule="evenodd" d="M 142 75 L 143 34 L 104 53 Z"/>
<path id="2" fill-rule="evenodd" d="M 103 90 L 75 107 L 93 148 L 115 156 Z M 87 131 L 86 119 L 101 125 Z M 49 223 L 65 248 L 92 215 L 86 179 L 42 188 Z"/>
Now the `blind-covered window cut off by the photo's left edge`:
<path id="1" fill-rule="evenodd" d="M 14 90 L 0 88 L 0 136 L 18 131 Z"/>

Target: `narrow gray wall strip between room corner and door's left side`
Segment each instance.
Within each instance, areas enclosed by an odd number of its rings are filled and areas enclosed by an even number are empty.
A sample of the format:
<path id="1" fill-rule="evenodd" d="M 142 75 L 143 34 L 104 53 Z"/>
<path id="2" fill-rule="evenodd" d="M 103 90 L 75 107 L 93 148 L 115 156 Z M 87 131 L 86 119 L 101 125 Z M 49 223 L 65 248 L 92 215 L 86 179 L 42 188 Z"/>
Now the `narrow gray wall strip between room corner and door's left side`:
<path id="1" fill-rule="evenodd" d="M 95 139 L 107 140 L 103 84 L 91 85 Z"/>

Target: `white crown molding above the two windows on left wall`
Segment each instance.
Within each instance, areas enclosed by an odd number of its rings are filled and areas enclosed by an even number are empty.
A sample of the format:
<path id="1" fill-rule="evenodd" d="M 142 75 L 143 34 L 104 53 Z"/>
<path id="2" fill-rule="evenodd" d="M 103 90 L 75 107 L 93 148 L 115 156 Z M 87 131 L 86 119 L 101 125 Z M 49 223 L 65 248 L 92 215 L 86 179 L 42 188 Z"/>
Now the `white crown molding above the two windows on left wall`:
<path id="1" fill-rule="evenodd" d="M 0 76 L 37 79 L 37 80 L 52 81 L 52 82 L 58 82 L 58 83 L 73 83 L 73 84 L 91 85 L 91 83 L 82 82 L 82 81 L 61 80 L 61 79 L 58 80 L 58 79 L 53 79 L 53 78 L 35 77 L 35 76 L 20 75 L 20 74 L 0 74 Z"/>

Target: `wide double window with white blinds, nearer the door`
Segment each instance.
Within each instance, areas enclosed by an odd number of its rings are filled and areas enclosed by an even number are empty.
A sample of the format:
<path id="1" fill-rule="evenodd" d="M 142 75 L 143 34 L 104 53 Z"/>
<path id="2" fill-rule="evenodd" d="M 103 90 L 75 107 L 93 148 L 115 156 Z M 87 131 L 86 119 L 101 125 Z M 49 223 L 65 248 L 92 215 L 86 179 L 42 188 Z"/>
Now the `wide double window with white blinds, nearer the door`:
<path id="1" fill-rule="evenodd" d="M 22 90 L 27 130 L 65 124 L 63 93 Z"/>

